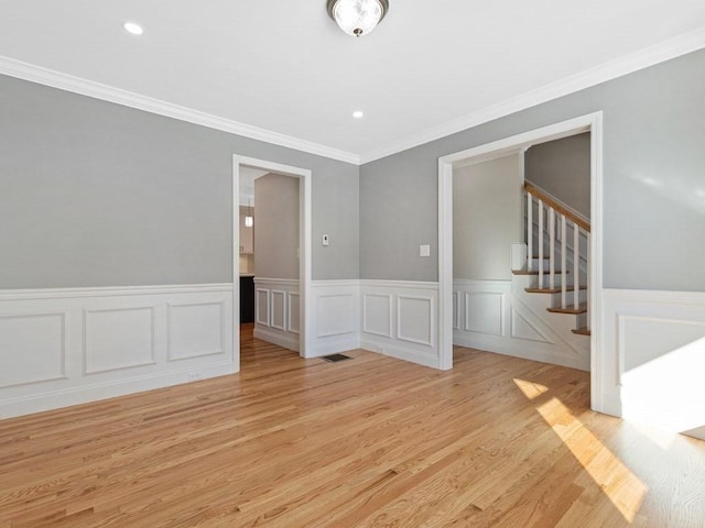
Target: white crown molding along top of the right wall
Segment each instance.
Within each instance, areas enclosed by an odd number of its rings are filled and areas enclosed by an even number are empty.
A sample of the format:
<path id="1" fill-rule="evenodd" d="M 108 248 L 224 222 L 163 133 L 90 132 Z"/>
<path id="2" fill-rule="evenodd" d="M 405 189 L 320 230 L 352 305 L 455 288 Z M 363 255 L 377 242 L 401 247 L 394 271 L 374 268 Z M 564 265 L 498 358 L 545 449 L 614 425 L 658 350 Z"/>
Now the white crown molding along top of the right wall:
<path id="1" fill-rule="evenodd" d="M 498 105 L 492 105 L 477 112 L 440 124 L 438 127 L 427 129 L 419 134 L 389 143 L 383 147 L 362 153 L 360 155 L 360 164 L 398 154 L 414 146 L 423 145 L 440 140 L 441 138 L 462 132 L 463 130 L 487 123 L 488 121 L 535 107 L 542 102 L 622 77 L 633 72 L 648 68 L 649 66 L 702 50 L 703 47 L 705 47 L 705 28 L 699 28 L 630 55 L 551 82 L 519 97 L 508 99 Z"/>

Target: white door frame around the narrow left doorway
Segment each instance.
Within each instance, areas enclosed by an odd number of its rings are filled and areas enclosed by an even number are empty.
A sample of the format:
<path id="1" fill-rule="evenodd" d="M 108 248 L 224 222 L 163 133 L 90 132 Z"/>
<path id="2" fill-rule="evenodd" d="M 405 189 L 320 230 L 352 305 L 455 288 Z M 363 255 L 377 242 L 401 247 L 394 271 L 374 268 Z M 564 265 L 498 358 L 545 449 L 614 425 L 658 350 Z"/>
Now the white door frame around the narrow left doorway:
<path id="1" fill-rule="evenodd" d="M 312 172 L 306 168 L 282 165 L 265 160 L 257 160 L 247 156 L 232 156 L 232 317 L 235 322 L 232 346 L 235 349 L 236 367 L 240 370 L 240 167 L 247 165 L 249 167 L 263 168 L 265 170 L 283 174 L 299 178 L 299 248 L 301 248 L 299 256 L 299 314 L 300 321 L 299 336 L 299 355 L 307 358 L 310 340 L 313 336 L 311 331 L 311 322 L 313 316 L 311 309 L 313 302 L 308 300 L 313 298 L 311 289 L 312 280 L 312 242 L 311 242 L 311 189 L 312 189 Z M 303 212 L 303 213 L 302 213 Z"/>

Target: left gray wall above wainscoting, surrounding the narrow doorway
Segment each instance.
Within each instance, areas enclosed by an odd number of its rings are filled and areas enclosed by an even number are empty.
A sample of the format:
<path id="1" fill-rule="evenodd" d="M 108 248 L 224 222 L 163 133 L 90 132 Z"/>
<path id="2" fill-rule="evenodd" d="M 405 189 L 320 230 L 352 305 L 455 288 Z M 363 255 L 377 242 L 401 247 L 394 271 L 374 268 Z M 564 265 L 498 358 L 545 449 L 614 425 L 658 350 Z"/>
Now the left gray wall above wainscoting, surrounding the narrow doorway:
<path id="1" fill-rule="evenodd" d="M 0 288 L 232 280 L 232 154 L 313 170 L 313 276 L 359 277 L 355 165 L 0 76 Z"/>

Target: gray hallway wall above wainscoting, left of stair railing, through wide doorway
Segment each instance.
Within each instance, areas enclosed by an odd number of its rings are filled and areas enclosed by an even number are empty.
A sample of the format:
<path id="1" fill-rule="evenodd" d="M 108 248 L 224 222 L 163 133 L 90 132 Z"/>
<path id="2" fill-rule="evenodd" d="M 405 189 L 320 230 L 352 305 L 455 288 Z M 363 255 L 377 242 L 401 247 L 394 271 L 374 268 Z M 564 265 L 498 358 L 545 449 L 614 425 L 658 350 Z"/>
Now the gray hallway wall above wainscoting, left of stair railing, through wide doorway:
<path id="1" fill-rule="evenodd" d="M 453 170 L 453 278 L 510 280 L 512 242 L 523 242 L 519 156 Z"/>

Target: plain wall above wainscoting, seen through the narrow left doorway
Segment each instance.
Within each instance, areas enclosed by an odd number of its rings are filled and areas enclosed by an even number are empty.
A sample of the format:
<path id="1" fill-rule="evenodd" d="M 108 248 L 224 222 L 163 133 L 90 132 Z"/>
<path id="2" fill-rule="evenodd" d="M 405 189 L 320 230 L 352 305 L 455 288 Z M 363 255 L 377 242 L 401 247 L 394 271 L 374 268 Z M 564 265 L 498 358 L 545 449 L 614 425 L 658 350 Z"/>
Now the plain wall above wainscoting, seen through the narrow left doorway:
<path id="1" fill-rule="evenodd" d="M 299 279 L 299 178 L 265 174 L 254 196 L 254 275 Z"/>

